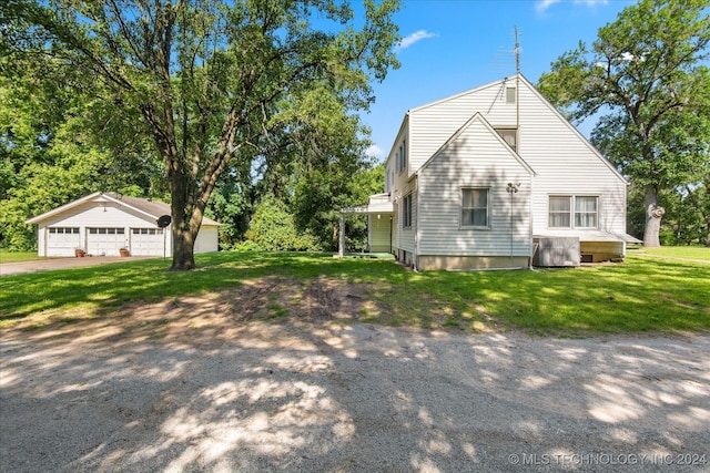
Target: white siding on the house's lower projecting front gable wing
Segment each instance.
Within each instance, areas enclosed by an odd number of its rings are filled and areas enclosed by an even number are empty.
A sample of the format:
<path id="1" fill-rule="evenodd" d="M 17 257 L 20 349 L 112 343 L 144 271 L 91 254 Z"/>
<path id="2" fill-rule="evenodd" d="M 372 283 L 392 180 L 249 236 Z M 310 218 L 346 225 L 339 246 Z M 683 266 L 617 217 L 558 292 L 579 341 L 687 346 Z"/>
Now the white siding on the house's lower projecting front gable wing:
<path id="1" fill-rule="evenodd" d="M 509 182 L 520 183 L 513 200 Z M 427 163 L 418 186 L 419 255 L 529 255 L 530 174 L 481 120 L 475 119 Z M 463 189 L 486 189 L 485 232 L 462 225 Z M 480 204 L 474 207 L 483 209 Z"/>

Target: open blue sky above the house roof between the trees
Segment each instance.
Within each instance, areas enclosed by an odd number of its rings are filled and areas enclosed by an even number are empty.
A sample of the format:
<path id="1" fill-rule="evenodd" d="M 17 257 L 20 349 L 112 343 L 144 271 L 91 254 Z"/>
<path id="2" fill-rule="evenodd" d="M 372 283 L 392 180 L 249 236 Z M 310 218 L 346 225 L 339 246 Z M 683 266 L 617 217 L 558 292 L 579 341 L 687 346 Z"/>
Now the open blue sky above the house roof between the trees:
<path id="1" fill-rule="evenodd" d="M 550 63 L 636 1 L 627 0 L 402 0 L 396 14 L 402 66 L 374 86 L 376 102 L 362 119 L 372 128 L 369 154 L 386 158 L 407 110 L 515 73 L 514 29 L 520 70 L 537 83 Z M 580 131 L 589 135 L 594 123 Z"/>

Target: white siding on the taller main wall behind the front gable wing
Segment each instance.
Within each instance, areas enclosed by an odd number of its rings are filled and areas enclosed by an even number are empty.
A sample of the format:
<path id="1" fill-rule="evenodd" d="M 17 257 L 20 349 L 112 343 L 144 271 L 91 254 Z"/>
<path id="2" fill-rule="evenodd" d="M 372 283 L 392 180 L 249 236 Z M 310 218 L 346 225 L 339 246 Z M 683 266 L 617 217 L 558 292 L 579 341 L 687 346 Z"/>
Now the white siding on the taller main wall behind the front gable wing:
<path id="1" fill-rule="evenodd" d="M 497 130 L 515 130 L 519 123 L 516 151 L 536 173 L 531 196 L 535 234 L 548 228 L 550 194 L 598 195 L 597 228 L 626 233 L 623 179 L 525 79 L 519 81 L 517 106 L 507 103 L 507 89 L 515 89 L 514 80 L 413 109 L 406 119 L 409 174 L 417 172 L 474 113 L 480 112 Z"/>

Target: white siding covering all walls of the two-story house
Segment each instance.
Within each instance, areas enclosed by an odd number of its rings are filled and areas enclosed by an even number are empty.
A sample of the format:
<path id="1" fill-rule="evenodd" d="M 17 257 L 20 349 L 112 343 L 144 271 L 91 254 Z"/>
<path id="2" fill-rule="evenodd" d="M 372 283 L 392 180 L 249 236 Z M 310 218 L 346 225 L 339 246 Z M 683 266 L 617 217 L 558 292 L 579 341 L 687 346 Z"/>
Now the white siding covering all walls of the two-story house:
<path id="1" fill-rule="evenodd" d="M 485 120 L 462 131 L 476 113 Z M 453 136 L 455 143 L 442 150 Z M 407 172 L 398 173 L 399 146 L 405 143 Z M 595 199 L 596 208 L 591 199 L 569 202 L 564 233 L 580 238 L 599 230 L 626 233 L 627 183 L 525 78 L 412 109 L 387 168 L 395 249 L 418 255 L 529 255 L 531 235 L 550 228 L 550 196 Z M 506 192 L 509 183 L 520 183 L 517 194 Z M 489 189 L 488 232 L 462 225 L 463 188 Z M 407 195 L 412 227 L 403 228 L 402 199 Z"/>

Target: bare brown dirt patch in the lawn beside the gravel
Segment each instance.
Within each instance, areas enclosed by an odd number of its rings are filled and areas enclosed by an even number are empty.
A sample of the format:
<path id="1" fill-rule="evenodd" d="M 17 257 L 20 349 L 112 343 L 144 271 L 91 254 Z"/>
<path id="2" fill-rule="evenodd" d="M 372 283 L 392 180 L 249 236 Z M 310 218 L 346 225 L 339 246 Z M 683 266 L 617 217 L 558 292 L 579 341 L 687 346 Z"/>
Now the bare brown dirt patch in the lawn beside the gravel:
<path id="1" fill-rule="evenodd" d="M 110 312 L 77 309 L 70 313 L 37 315 L 0 333 L 24 332 L 30 338 L 71 338 L 81 341 L 165 340 L 206 347 L 234 336 L 253 321 L 354 321 L 358 315 L 377 313 L 365 285 L 318 277 L 295 280 L 265 277 L 229 289 L 166 298 L 159 302 L 133 301 Z"/>

